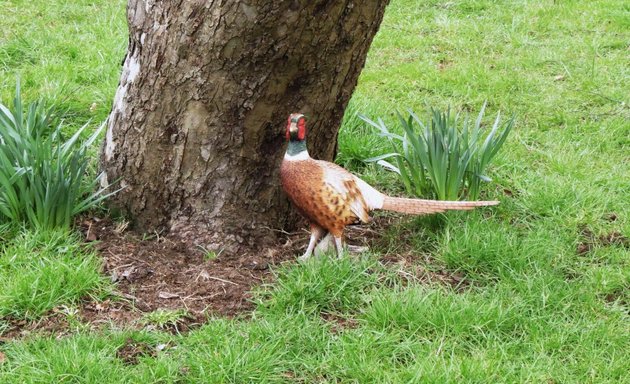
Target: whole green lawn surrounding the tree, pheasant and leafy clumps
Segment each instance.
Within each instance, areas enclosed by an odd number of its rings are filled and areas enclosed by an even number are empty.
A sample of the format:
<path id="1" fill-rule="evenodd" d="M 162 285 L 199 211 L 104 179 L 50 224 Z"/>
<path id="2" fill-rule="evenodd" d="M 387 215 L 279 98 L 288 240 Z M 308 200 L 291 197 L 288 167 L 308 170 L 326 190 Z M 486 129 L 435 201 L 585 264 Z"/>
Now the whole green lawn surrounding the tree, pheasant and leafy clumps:
<path id="1" fill-rule="evenodd" d="M 126 45 L 123 1 L 0 1 L 0 97 L 16 74 L 80 126 L 106 118 Z M 630 382 L 630 6 L 622 0 L 392 0 L 340 133 L 338 162 L 389 150 L 352 113 L 425 105 L 517 125 L 484 197 L 497 208 L 403 219 L 357 259 L 279 268 L 250 318 L 183 335 L 75 324 L 0 339 L 2 383 Z M 625 237 L 624 237 L 625 236 Z M 401 245 L 402 244 L 402 245 Z M 73 235 L 0 229 L 7 319 L 103 297 Z M 405 264 L 384 265 L 385 253 Z M 412 261 L 409 261 L 412 260 Z M 414 271 L 463 276 L 459 288 Z M 121 348 L 141 353 L 125 359 Z"/>

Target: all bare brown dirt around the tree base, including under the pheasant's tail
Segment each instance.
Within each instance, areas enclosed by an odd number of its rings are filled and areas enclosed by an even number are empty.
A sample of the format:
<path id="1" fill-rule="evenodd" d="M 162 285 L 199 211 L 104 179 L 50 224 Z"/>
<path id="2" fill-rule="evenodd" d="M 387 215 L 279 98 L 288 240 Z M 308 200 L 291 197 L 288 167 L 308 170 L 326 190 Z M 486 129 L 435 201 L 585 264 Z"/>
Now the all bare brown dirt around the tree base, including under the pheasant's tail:
<path id="1" fill-rule="evenodd" d="M 348 227 L 348 242 L 355 246 L 383 247 L 382 231 L 400 220 L 397 216 L 376 217 L 369 225 Z M 84 301 L 77 308 L 55 308 L 36 323 L 15 321 L 0 339 L 23 337 L 33 332 L 63 336 L 76 323 L 90 328 L 146 326 L 143 317 L 156 310 L 185 313 L 169 330 L 185 332 L 216 316 L 247 316 L 254 308 L 251 289 L 273 280 L 272 268 L 295 263 L 304 252 L 306 229 L 281 233 L 276 246 L 261 253 L 241 255 L 208 254 L 202 249 L 168 236 L 142 236 L 125 225 L 103 218 L 83 218 L 80 230 L 103 260 L 102 273 L 115 284 L 114 297 Z M 304 226 L 306 228 L 306 225 Z M 463 276 L 436 265 L 428 254 L 418 255 L 405 246 L 385 252 L 381 262 L 403 280 L 467 286 Z M 74 320 L 73 320 L 74 319 Z M 1 340 L 0 340 L 1 341 Z"/>

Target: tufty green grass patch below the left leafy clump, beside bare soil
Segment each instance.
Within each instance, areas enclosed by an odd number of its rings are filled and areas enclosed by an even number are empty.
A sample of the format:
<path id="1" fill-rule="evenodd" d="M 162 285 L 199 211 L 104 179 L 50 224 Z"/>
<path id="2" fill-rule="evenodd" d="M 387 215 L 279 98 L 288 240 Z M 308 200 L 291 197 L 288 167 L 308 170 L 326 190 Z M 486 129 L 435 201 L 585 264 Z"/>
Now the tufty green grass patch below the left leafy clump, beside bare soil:
<path id="1" fill-rule="evenodd" d="M 0 319 L 35 320 L 107 293 L 100 260 L 67 231 L 24 230 L 0 251 Z"/>

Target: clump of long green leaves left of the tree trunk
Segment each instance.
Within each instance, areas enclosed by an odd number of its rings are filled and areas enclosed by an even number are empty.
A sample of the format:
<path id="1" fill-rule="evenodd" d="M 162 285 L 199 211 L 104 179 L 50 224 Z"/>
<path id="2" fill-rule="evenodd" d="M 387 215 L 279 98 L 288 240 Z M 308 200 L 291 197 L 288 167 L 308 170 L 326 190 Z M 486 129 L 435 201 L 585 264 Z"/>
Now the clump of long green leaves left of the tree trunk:
<path id="1" fill-rule="evenodd" d="M 22 104 L 18 81 L 12 108 L 0 103 L 0 223 L 67 228 L 73 216 L 115 193 L 95 191 L 98 176 L 85 180 L 88 150 L 104 125 L 80 140 L 87 126 L 65 139 L 52 108 Z"/>

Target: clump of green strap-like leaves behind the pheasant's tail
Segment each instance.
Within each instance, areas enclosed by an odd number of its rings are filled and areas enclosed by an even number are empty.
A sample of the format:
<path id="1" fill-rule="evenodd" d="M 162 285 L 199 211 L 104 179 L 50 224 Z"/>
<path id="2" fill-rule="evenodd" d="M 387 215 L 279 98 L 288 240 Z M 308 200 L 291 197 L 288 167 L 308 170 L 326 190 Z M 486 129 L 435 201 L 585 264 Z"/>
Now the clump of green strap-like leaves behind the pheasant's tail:
<path id="1" fill-rule="evenodd" d="M 440 112 L 432 108 L 426 122 L 411 110 L 408 118 L 397 113 L 402 135 L 388 129 L 381 118 L 375 122 L 361 115 L 393 148 L 393 152 L 365 161 L 396 172 L 410 194 L 439 200 L 477 199 L 481 183 L 491 181 L 486 168 L 514 125 L 514 118 L 501 124 L 499 113 L 483 138 L 485 107 L 472 124 L 468 117 L 462 121 L 459 114 L 452 116 L 450 109 Z M 390 158 L 395 164 L 385 160 Z"/>

